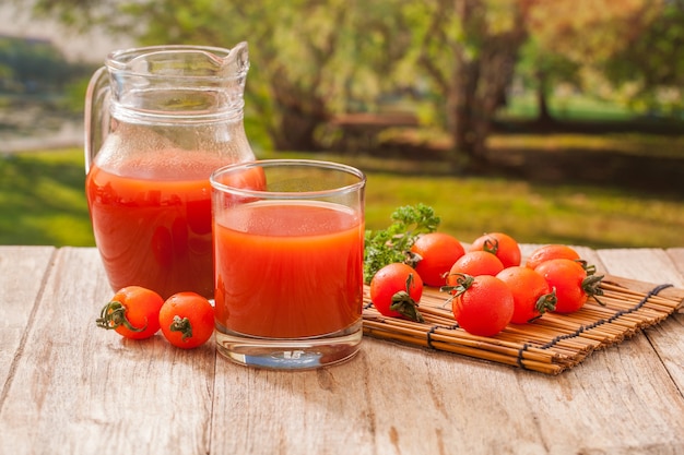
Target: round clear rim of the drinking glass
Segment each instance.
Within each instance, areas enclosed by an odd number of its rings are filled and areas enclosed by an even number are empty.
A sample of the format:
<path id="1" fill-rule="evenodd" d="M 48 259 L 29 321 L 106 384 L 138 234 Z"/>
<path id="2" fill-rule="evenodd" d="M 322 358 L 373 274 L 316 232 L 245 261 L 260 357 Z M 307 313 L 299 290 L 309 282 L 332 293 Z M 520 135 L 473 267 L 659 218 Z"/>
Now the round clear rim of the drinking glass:
<path id="1" fill-rule="evenodd" d="M 268 191 L 268 190 L 250 190 L 245 188 L 232 187 L 229 184 L 222 183 L 217 180 L 219 176 L 227 172 L 235 172 L 238 169 L 252 169 L 252 168 L 269 168 L 269 167 L 300 167 L 300 168 L 318 168 L 344 172 L 346 175 L 356 177 L 358 181 L 342 187 L 331 188 L 329 190 L 315 190 L 315 191 Z M 209 177 L 212 189 L 222 192 L 228 192 L 244 197 L 256 199 L 317 199 L 317 197 L 330 197 L 335 195 L 342 195 L 359 191 L 366 185 L 366 175 L 361 170 L 350 165 L 342 163 L 326 161 L 319 159 L 298 159 L 298 158 L 272 158 L 272 159 L 256 159 L 252 161 L 236 163 L 215 169 Z"/>

